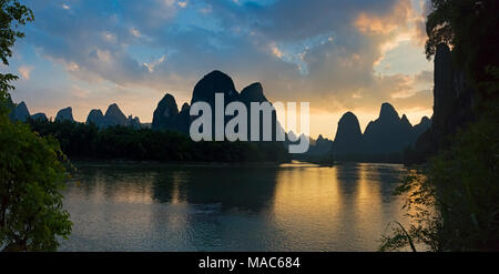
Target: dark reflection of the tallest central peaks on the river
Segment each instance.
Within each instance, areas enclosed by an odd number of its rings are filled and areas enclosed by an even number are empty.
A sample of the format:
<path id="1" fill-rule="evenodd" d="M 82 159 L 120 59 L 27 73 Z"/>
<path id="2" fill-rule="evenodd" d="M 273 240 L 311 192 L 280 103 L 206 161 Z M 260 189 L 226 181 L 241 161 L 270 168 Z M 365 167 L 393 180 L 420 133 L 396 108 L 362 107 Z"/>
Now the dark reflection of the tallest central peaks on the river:
<path id="1" fill-rule="evenodd" d="M 176 199 L 189 204 L 259 212 L 274 195 L 277 172 L 275 166 L 172 166 L 155 175 L 153 197 L 172 203 L 172 191 L 176 191 Z"/>

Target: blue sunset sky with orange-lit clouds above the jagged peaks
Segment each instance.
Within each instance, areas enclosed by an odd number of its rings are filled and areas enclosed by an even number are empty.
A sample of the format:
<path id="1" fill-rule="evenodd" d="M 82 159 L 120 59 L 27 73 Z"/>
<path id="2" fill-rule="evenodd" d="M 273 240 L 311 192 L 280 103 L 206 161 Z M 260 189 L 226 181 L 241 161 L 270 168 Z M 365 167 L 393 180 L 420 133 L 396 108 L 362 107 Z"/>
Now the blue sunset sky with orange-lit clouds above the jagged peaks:
<path id="1" fill-rule="evenodd" d="M 310 133 L 333 138 L 353 111 L 361 130 L 390 102 L 413 124 L 432 113 L 424 54 L 425 0 L 27 0 L 10 71 L 31 113 L 118 103 L 151 122 L 163 95 L 179 105 L 221 70 L 237 90 L 262 82 L 271 101 L 310 102 Z"/>

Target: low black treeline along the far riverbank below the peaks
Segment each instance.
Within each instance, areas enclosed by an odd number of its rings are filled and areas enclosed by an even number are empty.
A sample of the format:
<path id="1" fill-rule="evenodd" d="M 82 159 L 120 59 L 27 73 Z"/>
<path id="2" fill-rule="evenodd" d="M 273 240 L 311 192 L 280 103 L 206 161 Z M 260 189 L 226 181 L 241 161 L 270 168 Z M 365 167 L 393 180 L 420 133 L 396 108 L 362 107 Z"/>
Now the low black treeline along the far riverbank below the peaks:
<path id="1" fill-rule="evenodd" d="M 287 151 L 277 142 L 193 142 L 165 130 L 110 126 L 72 121 L 29 119 L 31 129 L 55 138 L 71 160 L 131 160 L 161 162 L 286 162 Z"/>

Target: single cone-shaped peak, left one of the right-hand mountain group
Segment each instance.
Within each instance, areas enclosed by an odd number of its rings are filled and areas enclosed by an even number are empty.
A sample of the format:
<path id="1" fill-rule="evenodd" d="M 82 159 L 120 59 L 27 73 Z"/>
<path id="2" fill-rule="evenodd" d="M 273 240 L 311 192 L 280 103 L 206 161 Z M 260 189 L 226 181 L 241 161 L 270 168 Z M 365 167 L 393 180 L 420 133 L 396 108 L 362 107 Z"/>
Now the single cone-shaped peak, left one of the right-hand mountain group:
<path id="1" fill-rule="evenodd" d="M 334 142 L 334 154 L 352 154 L 361 150 L 363 133 L 357 116 L 345 113 L 338 122 Z"/>

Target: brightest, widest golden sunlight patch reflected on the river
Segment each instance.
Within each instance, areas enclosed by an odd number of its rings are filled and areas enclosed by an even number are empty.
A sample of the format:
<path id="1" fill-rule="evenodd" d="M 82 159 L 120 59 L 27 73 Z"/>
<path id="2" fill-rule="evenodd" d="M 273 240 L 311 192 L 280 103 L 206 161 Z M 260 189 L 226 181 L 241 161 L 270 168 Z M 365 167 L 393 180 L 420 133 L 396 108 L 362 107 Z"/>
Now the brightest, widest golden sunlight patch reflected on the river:
<path id="1" fill-rule="evenodd" d="M 299 235 L 317 240 L 340 233 L 345 227 L 338 220 L 344 212 L 336 168 L 288 169 L 277 176 L 272 213 L 289 241 L 301 241 Z"/>

